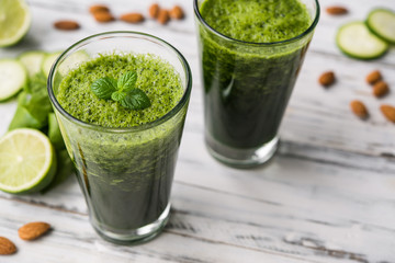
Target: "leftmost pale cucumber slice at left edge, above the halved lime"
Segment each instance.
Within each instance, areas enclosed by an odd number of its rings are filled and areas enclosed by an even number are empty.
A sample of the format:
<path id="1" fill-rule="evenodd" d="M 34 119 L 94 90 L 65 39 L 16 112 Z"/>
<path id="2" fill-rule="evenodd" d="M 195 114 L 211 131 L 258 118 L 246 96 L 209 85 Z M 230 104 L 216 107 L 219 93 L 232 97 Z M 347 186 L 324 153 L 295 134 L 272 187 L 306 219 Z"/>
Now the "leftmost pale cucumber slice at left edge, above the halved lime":
<path id="1" fill-rule="evenodd" d="M 0 101 L 15 95 L 27 83 L 23 65 L 15 59 L 0 59 Z"/>

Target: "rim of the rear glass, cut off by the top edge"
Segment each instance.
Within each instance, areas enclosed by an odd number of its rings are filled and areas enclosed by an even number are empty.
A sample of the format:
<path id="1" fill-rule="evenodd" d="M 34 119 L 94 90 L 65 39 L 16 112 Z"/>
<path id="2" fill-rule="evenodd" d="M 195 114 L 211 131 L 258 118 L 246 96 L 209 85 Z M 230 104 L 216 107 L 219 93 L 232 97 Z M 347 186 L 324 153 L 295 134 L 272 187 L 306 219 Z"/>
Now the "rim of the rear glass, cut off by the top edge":
<path id="1" fill-rule="evenodd" d="M 285 39 L 285 41 L 279 41 L 279 42 L 246 42 L 246 41 L 240 41 L 240 39 L 236 39 L 233 38 L 230 36 L 224 35 L 222 33 L 219 33 L 218 31 L 214 30 L 211 25 L 208 25 L 205 20 L 203 19 L 199 7 L 198 7 L 198 1 L 199 0 L 193 0 L 193 10 L 195 13 L 195 16 L 199 19 L 199 21 L 206 27 L 208 28 L 212 33 L 214 33 L 215 35 L 226 39 L 226 41 L 232 41 L 232 42 L 236 42 L 239 44 L 244 44 L 244 45 L 251 45 L 251 46 L 275 46 L 275 45 L 284 45 L 284 44 L 289 44 L 289 43 L 293 43 L 296 42 L 301 38 L 303 38 L 304 36 L 308 35 L 311 32 L 314 31 L 314 28 L 316 27 L 318 20 L 319 20 L 319 13 L 320 13 L 320 8 L 319 8 L 319 3 L 318 0 L 314 0 L 315 4 L 316 4 L 316 12 L 315 12 L 315 16 L 313 20 L 313 23 L 307 27 L 307 30 L 305 30 L 303 33 L 298 34 L 297 36 L 294 36 L 292 38 Z"/>

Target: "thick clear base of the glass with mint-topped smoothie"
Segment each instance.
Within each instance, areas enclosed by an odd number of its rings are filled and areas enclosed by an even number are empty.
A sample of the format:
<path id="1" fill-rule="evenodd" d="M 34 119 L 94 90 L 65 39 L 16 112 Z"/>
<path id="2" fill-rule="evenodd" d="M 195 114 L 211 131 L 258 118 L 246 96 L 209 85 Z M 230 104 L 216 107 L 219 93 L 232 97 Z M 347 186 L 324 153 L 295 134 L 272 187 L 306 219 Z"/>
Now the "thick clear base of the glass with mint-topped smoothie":
<path id="1" fill-rule="evenodd" d="M 158 220 L 137 229 L 125 230 L 122 233 L 105 230 L 105 227 L 101 226 L 100 222 L 95 222 L 92 218 L 91 224 L 99 236 L 109 242 L 116 244 L 138 244 L 147 242 L 158 236 L 168 222 L 169 217 L 170 204 L 168 204 Z"/>

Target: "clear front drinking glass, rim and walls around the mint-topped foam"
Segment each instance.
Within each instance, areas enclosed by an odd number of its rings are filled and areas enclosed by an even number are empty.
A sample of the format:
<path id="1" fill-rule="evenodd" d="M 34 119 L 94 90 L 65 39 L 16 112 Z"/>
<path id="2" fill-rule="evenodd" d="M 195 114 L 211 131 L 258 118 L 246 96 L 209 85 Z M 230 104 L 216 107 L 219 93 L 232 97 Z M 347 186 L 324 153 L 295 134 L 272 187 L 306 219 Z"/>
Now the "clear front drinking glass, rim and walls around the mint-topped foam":
<path id="1" fill-rule="evenodd" d="M 57 101 L 57 90 L 83 57 L 100 54 L 154 54 L 173 66 L 184 89 L 180 102 L 161 118 L 131 128 L 109 128 L 72 117 Z M 49 98 L 77 168 L 90 221 L 105 240 L 135 243 L 154 238 L 166 225 L 170 190 L 192 79 L 188 62 L 171 45 L 137 32 L 108 32 L 69 47 L 54 64 Z"/>

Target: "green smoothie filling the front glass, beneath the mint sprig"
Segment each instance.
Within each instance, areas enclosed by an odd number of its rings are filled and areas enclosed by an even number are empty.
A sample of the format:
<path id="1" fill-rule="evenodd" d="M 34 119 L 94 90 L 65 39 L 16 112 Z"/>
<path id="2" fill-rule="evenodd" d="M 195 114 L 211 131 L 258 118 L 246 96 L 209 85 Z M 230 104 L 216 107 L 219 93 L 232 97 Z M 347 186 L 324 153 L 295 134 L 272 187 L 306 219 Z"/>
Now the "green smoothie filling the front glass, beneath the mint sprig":
<path id="1" fill-rule="evenodd" d="M 137 72 L 136 87 L 148 95 L 149 107 L 129 110 L 91 91 L 97 79 L 119 79 L 127 71 Z M 99 232 L 133 233 L 167 209 L 188 104 L 162 122 L 158 119 L 174 108 L 183 92 L 174 68 L 149 54 L 101 55 L 63 78 L 55 92 L 61 107 L 97 125 L 82 127 L 58 114 L 90 219 Z M 155 121 L 159 124 L 150 125 Z M 106 132 L 102 127 L 126 129 Z"/>

